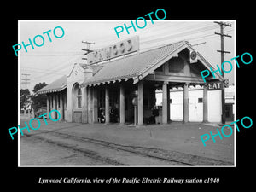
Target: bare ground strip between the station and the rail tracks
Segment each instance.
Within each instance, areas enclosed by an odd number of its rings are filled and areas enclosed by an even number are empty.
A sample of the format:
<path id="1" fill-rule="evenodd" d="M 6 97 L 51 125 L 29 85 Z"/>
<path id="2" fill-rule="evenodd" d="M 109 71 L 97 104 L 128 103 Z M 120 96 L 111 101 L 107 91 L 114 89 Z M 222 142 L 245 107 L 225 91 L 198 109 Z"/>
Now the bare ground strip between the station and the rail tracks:
<path id="1" fill-rule="evenodd" d="M 41 119 L 44 121 L 43 119 Z M 176 151 L 185 154 L 198 155 L 234 163 L 234 137 L 215 137 L 201 143 L 201 135 L 217 133 L 216 128 L 200 123 L 172 122 L 169 125 L 146 125 L 134 127 L 128 125 L 104 125 L 104 124 L 79 124 L 66 122 L 50 122 L 45 125 L 42 122 L 40 129 L 29 134 L 40 134 L 46 131 L 56 131 L 74 137 L 93 138 L 109 143 L 125 146 L 139 146 L 145 148 L 160 148 L 168 151 Z"/>

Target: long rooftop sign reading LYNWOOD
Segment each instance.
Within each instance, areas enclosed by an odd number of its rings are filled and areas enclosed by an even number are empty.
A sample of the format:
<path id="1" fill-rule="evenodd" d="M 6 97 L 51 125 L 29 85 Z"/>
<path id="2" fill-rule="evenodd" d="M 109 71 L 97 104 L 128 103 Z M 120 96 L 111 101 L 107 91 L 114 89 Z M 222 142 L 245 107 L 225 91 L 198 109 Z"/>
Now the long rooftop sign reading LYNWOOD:
<path id="1" fill-rule="evenodd" d="M 87 55 L 88 64 L 106 61 L 115 57 L 130 54 L 139 49 L 139 37 L 127 38 L 102 49 L 96 49 Z"/>

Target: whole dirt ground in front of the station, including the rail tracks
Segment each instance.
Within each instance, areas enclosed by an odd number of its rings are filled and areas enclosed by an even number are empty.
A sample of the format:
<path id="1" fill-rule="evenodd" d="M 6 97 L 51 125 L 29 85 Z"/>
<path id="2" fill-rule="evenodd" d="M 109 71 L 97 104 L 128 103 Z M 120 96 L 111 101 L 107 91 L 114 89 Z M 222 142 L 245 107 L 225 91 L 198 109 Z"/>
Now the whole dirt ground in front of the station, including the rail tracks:
<path id="1" fill-rule="evenodd" d="M 38 130 L 24 131 L 26 136 L 20 137 L 21 166 L 234 164 L 233 135 L 215 137 L 216 143 L 209 140 L 206 147 L 201 143 L 202 134 L 216 131 L 210 125 L 172 122 L 134 127 L 51 121 L 45 125 L 41 121 Z"/>

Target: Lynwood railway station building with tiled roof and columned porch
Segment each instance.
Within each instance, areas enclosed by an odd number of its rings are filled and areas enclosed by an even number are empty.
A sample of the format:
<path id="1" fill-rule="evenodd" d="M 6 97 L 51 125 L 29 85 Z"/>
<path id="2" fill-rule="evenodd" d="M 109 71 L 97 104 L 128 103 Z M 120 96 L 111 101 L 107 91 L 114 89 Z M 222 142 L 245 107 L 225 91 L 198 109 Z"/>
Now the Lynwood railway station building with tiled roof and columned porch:
<path id="1" fill-rule="evenodd" d="M 57 109 L 61 113 L 60 120 L 92 124 L 99 122 L 103 111 L 106 124 L 144 125 L 152 116 L 156 92 L 160 90 L 160 122 L 168 124 L 173 116 L 171 112 L 175 113 L 171 109 L 172 89 L 175 88 L 183 92 L 180 98 L 183 100 L 182 117 L 183 122 L 189 122 L 189 87 L 200 86 L 200 121 L 215 121 L 209 117 L 209 111 L 221 108 L 222 103 L 208 99 L 207 84 L 224 79 L 215 73 L 216 78 L 209 75 L 207 82 L 203 81 L 201 71 L 214 67 L 189 42 L 167 44 L 144 52 L 138 47 L 138 37 L 134 37 L 94 50 L 88 54 L 86 63 L 75 63 L 67 76 L 38 90 L 38 94 L 47 95 L 48 114 Z M 219 94 L 220 91 L 218 97 Z M 111 117 L 113 108 L 118 113 L 115 120 Z M 221 119 L 221 110 L 214 115 Z"/>

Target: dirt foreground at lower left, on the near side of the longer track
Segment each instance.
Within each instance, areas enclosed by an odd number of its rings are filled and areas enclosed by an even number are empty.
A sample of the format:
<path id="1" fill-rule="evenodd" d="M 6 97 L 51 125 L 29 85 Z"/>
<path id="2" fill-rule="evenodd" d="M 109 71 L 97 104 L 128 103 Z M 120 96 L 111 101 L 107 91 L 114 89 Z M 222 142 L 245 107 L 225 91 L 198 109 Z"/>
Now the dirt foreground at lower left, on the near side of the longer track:
<path id="1" fill-rule="evenodd" d="M 82 140 L 60 133 L 22 137 L 20 165 L 186 165 L 103 141 Z"/>

